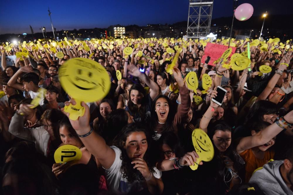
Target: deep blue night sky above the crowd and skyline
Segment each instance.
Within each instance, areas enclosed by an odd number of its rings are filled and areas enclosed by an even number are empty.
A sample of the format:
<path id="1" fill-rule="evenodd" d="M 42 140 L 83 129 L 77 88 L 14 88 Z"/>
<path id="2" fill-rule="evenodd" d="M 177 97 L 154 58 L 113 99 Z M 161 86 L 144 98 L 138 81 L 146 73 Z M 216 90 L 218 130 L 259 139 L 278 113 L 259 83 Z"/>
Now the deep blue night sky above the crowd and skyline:
<path id="1" fill-rule="evenodd" d="M 91 2 L 91 3 L 89 3 Z M 238 5 L 250 3 L 253 15 L 266 10 L 269 14 L 291 14 L 293 1 L 289 0 L 239 0 Z M 69 0 L 21 1 L 14 0 L 0 6 L 0 34 L 41 32 L 45 26 L 50 31 L 48 6 L 57 30 L 74 28 L 106 28 L 110 25 L 172 24 L 188 19 L 188 0 Z M 232 16 L 233 0 L 214 0 L 212 18 Z"/>

